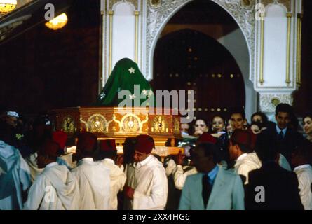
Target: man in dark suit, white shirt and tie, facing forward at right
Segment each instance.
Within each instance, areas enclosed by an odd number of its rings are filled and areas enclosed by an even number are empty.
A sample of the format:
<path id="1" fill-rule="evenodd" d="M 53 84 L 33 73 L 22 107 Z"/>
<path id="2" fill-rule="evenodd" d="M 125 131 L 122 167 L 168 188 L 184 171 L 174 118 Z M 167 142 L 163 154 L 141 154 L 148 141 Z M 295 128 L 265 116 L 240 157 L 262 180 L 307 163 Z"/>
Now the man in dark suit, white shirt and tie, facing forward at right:
<path id="1" fill-rule="evenodd" d="M 289 104 L 278 104 L 276 106 L 276 124 L 269 125 L 267 132 L 277 142 L 278 151 L 282 153 L 290 163 L 292 151 L 303 139 L 297 130 L 290 128 L 290 122 L 293 115 L 292 106 Z"/>

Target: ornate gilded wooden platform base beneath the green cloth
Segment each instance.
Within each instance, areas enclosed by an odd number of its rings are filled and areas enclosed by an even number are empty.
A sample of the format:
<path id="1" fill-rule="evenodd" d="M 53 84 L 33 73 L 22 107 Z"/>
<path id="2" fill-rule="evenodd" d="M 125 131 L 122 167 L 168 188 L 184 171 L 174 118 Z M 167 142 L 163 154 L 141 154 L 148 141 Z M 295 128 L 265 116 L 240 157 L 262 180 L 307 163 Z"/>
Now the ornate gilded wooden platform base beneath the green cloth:
<path id="1" fill-rule="evenodd" d="M 69 136 L 86 130 L 93 132 L 97 139 L 116 139 L 118 153 L 122 153 L 122 145 L 127 137 L 149 134 L 155 141 L 154 153 L 163 157 L 182 150 L 165 146 L 168 139 L 182 138 L 180 116 L 174 112 L 177 111 L 160 109 L 156 113 L 156 109 L 152 111 L 135 107 L 74 107 L 55 109 L 51 111 L 51 116 L 55 120 L 56 130 L 62 130 Z"/>

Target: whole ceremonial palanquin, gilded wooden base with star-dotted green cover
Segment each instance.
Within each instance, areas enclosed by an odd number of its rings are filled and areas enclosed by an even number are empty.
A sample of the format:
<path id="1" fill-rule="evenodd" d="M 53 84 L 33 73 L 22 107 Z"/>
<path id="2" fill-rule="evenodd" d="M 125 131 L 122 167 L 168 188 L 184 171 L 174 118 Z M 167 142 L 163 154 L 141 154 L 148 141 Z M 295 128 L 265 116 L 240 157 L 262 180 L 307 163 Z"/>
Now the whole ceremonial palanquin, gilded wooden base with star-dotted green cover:
<path id="1" fill-rule="evenodd" d="M 176 154 L 180 150 L 165 146 L 168 139 L 181 138 L 178 111 L 154 109 L 151 85 L 131 59 L 123 58 L 116 63 L 93 105 L 52 111 L 56 129 L 69 135 L 87 131 L 95 133 L 98 139 L 116 139 L 119 152 L 127 137 L 138 134 L 153 137 L 154 153 L 158 155 Z M 169 145 L 175 146 L 174 141 Z"/>

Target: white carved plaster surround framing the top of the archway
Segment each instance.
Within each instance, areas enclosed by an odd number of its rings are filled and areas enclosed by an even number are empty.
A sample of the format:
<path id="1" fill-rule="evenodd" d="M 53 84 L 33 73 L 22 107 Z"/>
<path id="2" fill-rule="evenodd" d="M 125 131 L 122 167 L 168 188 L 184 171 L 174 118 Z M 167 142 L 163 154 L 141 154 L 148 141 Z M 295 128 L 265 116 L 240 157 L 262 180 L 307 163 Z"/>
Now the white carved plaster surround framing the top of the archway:
<path id="1" fill-rule="evenodd" d="M 146 42 L 146 74 L 151 77 L 150 60 L 153 58 L 153 46 L 161 30 L 177 10 L 186 3 L 194 0 L 166 0 L 161 1 L 161 6 L 155 8 L 147 1 L 147 42 Z M 250 80 L 254 80 L 254 55 L 255 55 L 255 0 L 250 0 L 246 5 L 241 0 L 212 0 L 222 6 L 238 23 L 246 40 L 250 52 Z"/>

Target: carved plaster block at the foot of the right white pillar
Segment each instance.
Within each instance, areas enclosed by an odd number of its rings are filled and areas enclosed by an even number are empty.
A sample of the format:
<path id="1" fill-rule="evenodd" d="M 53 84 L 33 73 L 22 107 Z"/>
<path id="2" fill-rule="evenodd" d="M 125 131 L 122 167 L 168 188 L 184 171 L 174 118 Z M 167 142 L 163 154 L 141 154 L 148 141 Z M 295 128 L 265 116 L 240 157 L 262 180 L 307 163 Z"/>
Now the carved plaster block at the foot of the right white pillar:
<path id="1" fill-rule="evenodd" d="M 291 93 L 259 93 L 259 98 L 260 111 L 264 113 L 273 113 L 280 103 L 292 105 Z"/>

